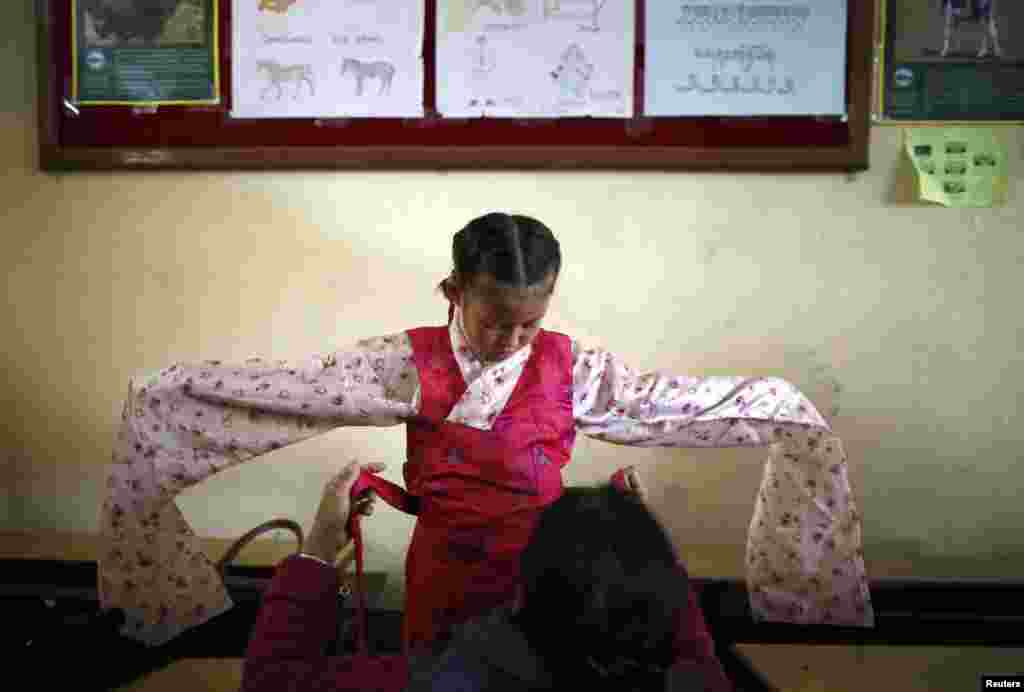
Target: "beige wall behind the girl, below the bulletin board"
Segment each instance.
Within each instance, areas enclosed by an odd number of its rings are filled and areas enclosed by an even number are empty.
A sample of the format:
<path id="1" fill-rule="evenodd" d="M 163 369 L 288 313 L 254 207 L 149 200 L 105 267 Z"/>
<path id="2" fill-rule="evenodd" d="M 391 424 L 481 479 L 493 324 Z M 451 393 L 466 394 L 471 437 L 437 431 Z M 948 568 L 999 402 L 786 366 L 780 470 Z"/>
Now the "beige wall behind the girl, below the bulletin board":
<path id="1" fill-rule="evenodd" d="M 870 172 L 72 174 L 36 170 L 35 45 L 0 4 L 3 486 L 8 528 L 93 530 L 129 377 L 175 360 L 298 357 L 440 323 L 452 233 L 492 209 L 545 220 L 565 270 L 549 327 L 636 367 L 777 375 L 847 440 L 873 575 L 1019 575 L 1024 135 L 1008 205 L 906 204 L 900 133 Z M 356 456 L 399 477 L 401 429 L 339 430 L 194 488 L 204 534 L 308 522 Z M 571 482 L 641 465 L 682 546 L 741 555 L 763 453 L 583 440 Z M 411 522 L 370 524 L 400 569 Z M 722 567 L 728 571 L 731 567 Z"/>

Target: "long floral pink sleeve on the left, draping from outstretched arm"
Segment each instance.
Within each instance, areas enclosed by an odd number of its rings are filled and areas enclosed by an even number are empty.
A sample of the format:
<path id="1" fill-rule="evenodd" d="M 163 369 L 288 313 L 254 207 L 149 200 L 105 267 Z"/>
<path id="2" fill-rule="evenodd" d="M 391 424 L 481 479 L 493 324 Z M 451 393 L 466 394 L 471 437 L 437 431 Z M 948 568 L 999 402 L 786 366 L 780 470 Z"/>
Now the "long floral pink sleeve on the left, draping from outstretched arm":
<path id="1" fill-rule="evenodd" d="M 305 362 L 175 364 L 130 385 L 100 516 L 103 608 L 151 645 L 227 610 L 174 498 L 211 475 L 339 426 L 397 425 L 419 384 L 406 335 Z"/>

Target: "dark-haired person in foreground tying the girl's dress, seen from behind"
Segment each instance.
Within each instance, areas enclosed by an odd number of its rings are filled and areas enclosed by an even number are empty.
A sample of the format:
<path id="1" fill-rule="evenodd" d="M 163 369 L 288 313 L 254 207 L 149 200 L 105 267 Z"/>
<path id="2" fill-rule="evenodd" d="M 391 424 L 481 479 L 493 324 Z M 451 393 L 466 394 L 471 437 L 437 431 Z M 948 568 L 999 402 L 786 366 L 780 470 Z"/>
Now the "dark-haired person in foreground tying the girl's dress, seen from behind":
<path id="1" fill-rule="evenodd" d="M 353 462 L 328 484 L 308 553 L 279 567 L 247 651 L 243 692 L 371 684 L 345 658 L 324 655 L 338 632 L 334 560 L 349 538 L 357 475 Z M 633 489 L 642 498 L 642 488 Z M 688 601 L 672 543 L 634 495 L 610 485 L 567 488 L 544 510 L 521 570 L 515 603 L 458 625 L 435 658 L 411 661 L 409 692 L 732 689 L 713 653 L 680 660 L 674 614 L 690 609 L 692 635 L 706 634 L 703 619 Z M 401 686 L 395 677 L 376 683 Z"/>

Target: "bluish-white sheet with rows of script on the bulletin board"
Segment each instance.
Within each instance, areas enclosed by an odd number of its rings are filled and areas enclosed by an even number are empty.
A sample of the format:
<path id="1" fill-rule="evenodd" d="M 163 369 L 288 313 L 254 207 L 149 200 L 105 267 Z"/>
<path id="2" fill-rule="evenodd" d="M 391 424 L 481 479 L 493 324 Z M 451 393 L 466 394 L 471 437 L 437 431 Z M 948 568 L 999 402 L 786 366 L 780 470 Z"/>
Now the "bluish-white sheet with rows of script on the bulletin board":
<path id="1" fill-rule="evenodd" d="M 844 116 L 847 0 L 647 0 L 648 116 Z"/>

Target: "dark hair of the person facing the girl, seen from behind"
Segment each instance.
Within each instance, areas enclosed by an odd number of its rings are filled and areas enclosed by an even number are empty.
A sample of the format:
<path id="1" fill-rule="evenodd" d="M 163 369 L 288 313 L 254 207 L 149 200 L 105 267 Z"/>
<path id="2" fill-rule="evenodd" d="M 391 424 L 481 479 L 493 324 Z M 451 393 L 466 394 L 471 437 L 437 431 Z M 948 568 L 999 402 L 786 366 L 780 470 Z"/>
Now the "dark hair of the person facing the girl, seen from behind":
<path id="1" fill-rule="evenodd" d="M 542 514 L 514 616 L 555 689 L 664 690 L 686 572 L 657 519 L 610 485 L 567 488 Z"/>

